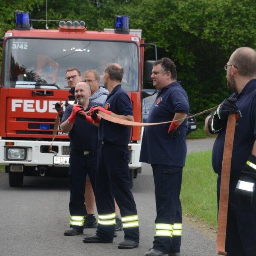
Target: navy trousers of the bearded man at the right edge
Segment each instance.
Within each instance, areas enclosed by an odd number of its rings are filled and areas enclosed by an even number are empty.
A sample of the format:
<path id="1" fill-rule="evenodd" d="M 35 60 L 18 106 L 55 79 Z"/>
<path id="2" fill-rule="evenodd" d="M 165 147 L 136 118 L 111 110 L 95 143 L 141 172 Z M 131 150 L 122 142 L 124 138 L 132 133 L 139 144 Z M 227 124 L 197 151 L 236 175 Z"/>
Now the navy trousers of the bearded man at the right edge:
<path id="1" fill-rule="evenodd" d="M 256 195 L 252 207 L 242 207 L 235 197 L 238 179 L 230 180 L 230 193 L 227 211 L 227 256 L 256 256 Z M 219 206 L 221 177 L 217 179 Z"/>

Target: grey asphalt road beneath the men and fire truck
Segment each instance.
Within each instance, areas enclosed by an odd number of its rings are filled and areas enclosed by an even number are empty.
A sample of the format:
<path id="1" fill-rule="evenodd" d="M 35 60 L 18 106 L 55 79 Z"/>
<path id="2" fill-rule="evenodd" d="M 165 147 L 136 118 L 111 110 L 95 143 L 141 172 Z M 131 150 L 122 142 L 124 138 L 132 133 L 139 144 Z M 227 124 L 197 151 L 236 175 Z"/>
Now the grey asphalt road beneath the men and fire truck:
<path id="1" fill-rule="evenodd" d="M 213 139 L 189 140 L 188 153 L 212 148 Z M 67 178 L 24 177 L 21 188 L 11 188 L 0 171 L 0 256 L 143 256 L 154 236 L 154 183 L 151 167 L 134 179 L 132 189 L 140 221 L 140 246 L 119 250 L 119 231 L 113 244 L 84 244 L 84 235 L 64 236 L 69 219 Z M 85 229 L 94 234 L 95 229 Z M 182 256 L 215 256 L 215 241 L 183 224 Z"/>

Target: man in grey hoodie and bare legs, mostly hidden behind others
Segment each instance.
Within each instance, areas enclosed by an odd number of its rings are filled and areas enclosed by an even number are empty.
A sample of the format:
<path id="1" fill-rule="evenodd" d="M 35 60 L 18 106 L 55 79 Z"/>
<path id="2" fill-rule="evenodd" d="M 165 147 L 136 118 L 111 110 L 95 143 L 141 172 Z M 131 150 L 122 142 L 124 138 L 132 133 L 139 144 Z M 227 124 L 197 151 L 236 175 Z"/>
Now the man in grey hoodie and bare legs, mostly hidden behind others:
<path id="1" fill-rule="evenodd" d="M 90 88 L 92 92 L 90 96 L 90 101 L 104 104 L 108 97 L 108 90 L 103 87 L 99 87 L 99 82 L 100 82 L 99 73 L 96 70 L 86 70 L 84 72 L 84 81 L 90 84 Z M 91 186 L 89 177 L 86 178 L 85 205 L 88 213 L 86 217 L 87 218 L 86 224 L 89 225 L 89 227 L 94 227 L 94 224 L 96 224 L 96 218 L 94 217 L 95 197 L 94 197 L 93 188 Z M 119 231 L 119 230 L 122 230 L 122 221 L 120 218 L 119 207 L 117 206 L 116 201 L 115 201 L 115 209 L 116 209 L 115 230 Z M 87 226 L 85 225 L 84 227 L 87 227 Z"/>

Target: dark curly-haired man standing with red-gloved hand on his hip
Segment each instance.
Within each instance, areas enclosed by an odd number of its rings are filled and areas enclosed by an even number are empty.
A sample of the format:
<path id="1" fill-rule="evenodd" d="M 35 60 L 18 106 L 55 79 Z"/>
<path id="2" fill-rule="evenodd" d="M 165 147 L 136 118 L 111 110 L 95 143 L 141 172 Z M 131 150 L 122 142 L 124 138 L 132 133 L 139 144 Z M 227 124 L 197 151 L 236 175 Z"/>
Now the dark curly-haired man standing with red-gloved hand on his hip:
<path id="1" fill-rule="evenodd" d="M 166 122 L 185 118 L 189 102 L 176 81 L 176 67 L 169 58 L 154 63 L 151 78 L 159 90 L 147 122 Z M 140 162 L 153 169 L 157 217 L 153 247 L 146 256 L 179 256 L 182 233 L 180 188 L 186 158 L 187 120 L 145 126 Z"/>

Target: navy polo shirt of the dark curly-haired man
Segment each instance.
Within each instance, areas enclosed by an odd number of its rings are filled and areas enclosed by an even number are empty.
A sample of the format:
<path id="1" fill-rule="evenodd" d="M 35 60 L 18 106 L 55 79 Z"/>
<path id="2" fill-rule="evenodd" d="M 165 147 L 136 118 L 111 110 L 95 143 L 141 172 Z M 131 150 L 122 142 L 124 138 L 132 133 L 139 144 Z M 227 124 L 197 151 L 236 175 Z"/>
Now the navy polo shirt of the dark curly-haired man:
<path id="1" fill-rule="evenodd" d="M 175 113 L 189 113 L 188 96 L 179 81 L 164 87 L 157 95 L 147 122 L 171 121 Z M 177 128 L 176 138 L 168 136 L 170 124 L 145 126 L 140 162 L 169 166 L 185 165 L 187 120 Z"/>

